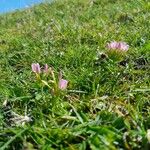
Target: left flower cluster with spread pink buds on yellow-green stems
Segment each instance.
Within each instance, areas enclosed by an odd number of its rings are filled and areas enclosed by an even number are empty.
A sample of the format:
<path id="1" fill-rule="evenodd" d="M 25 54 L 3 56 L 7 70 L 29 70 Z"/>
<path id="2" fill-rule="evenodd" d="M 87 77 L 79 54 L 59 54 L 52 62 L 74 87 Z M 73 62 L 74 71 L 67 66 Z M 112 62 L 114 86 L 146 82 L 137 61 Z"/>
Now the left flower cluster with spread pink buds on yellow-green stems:
<path id="1" fill-rule="evenodd" d="M 42 70 L 39 63 L 32 63 L 31 65 L 32 72 L 34 72 L 37 76 L 37 79 L 39 79 L 44 85 L 48 86 L 51 88 L 49 83 L 53 83 L 53 86 L 55 87 L 55 91 L 58 89 L 60 90 L 66 90 L 68 86 L 68 81 L 62 78 L 62 73 L 59 73 L 58 79 L 55 78 L 54 71 L 51 67 L 49 67 L 47 64 L 44 65 L 44 69 Z M 52 80 L 45 81 L 41 79 L 40 74 L 43 73 L 44 75 L 50 75 L 50 78 Z M 54 89 L 53 89 L 54 90 Z"/>

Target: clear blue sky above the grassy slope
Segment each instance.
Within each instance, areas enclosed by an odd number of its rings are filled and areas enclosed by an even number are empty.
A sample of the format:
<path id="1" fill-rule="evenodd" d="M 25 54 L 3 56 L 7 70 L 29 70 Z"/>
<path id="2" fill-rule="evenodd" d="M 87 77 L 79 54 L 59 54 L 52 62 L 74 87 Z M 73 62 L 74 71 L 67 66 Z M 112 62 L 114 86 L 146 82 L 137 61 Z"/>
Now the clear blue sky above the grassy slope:
<path id="1" fill-rule="evenodd" d="M 25 8 L 42 1 L 43 0 L 0 0 L 0 13 Z"/>

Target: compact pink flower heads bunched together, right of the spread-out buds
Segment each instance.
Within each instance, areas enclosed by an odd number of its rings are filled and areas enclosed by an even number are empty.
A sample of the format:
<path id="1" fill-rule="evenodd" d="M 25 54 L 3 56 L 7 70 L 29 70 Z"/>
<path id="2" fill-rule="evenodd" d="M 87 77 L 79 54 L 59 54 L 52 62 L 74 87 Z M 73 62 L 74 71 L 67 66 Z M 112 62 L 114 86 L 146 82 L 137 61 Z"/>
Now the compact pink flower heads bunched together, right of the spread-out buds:
<path id="1" fill-rule="evenodd" d="M 116 42 L 113 41 L 108 43 L 107 47 L 111 50 L 120 50 L 126 52 L 129 49 L 129 45 L 125 42 Z"/>

